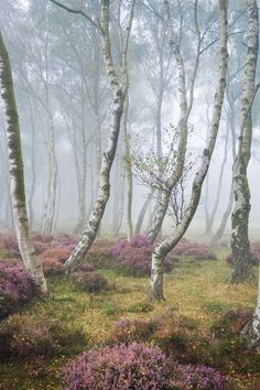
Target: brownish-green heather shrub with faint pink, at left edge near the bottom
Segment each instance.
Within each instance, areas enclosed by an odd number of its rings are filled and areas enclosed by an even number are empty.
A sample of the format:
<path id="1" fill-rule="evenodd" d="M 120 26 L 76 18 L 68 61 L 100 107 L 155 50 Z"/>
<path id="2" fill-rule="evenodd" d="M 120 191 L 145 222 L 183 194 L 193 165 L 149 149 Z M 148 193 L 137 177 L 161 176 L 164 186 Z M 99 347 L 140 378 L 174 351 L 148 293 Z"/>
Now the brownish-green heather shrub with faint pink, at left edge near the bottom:
<path id="1" fill-rule="evenodd" d="M 86 346 L 79 328 L 44 316 L 14 314 L 0 325 L 0 360 L 72 354 Z"/>

